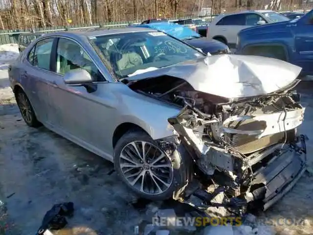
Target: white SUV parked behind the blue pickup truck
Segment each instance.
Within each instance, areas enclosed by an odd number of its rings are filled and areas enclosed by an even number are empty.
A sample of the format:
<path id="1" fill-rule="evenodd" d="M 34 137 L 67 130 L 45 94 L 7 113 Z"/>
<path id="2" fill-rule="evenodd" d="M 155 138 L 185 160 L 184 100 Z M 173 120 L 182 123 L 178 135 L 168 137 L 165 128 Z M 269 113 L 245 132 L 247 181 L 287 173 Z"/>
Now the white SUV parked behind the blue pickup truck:
<path id="1" fill-rule="evenodd" d="M 219 40 L 231 48 L 236 46 L 240 30 L 255 25 L 289 21 L 286 16 L 270 10 L 242 11 L 216 16 L 209 24 L 207 37 Z"/>

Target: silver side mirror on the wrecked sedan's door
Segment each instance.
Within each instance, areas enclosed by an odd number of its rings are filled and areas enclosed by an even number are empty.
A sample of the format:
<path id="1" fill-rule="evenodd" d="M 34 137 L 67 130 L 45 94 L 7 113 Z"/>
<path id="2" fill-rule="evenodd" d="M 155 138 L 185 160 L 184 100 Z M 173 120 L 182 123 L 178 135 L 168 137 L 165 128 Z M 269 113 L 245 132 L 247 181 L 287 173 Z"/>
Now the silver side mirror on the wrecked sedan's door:
<path id="1" fill-rule="evenodd" d="M 83 86 L 87 92 L 95 92 L 97 85 L 92 83 L 91 75 L 83 69 L 70 70 L 64 74 L 63 80 L 68 86 Z"/>

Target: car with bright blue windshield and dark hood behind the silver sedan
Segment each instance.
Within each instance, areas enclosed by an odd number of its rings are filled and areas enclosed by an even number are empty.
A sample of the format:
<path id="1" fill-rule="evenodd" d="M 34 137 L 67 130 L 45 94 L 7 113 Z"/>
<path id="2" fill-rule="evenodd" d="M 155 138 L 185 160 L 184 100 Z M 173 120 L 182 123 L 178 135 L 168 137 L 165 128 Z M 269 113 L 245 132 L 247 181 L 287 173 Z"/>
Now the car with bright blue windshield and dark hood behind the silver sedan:
<path id="1" fill-rule="evenodd" d="M 153 23 L 136 25 L 135 27 L 146 27 L 165 32 L 166 34 L 178 38 L 179 40 L 182 40 L 193 47 L 200 48 L 205 54 L 207 54 L 207 52 L 209 52 L 211 55 L 230 54 L 230 50 L 225 44 L 214 39 L 207 39 L 206 37 L 202 37 L 200 34 L 190 29 L 189 27 L 179 24 Z"/>

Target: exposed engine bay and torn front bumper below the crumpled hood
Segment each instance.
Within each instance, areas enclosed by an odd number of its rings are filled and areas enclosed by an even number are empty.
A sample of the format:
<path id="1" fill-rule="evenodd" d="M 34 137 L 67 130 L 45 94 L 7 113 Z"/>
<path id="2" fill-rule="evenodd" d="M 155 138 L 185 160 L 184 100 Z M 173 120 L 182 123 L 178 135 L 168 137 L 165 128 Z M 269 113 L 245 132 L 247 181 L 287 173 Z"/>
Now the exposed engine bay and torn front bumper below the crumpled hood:
<path id="1" fill-rule="evenodd" d="M 195 174 L 174 199 L 214 216 L 267 210 L 279 200 L 306 167 L 305 137 L 296 131 L 305 108 L 292 90 L 298 82 L 237 99 L 195 91 L 172 76 L 129 82 L 138 93 L 181 107 L 168 119 L 178 138 L 163 147 L 183 144 Z"/>

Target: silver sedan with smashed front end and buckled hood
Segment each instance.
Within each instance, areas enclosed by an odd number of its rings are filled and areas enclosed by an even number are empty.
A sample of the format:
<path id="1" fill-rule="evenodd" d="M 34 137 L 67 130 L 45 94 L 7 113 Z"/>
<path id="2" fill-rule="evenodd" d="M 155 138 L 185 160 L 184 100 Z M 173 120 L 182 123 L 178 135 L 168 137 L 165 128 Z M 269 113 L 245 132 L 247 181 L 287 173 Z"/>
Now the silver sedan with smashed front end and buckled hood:
<path id="1" fill-rule="evenodd" d="M 305 171 L 300 71 L 128 28 L 48 34 L 9 77 L 29 126 L 112 161 L 141 197 L 228 216 L 268 209 Z"/>

